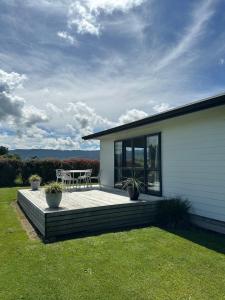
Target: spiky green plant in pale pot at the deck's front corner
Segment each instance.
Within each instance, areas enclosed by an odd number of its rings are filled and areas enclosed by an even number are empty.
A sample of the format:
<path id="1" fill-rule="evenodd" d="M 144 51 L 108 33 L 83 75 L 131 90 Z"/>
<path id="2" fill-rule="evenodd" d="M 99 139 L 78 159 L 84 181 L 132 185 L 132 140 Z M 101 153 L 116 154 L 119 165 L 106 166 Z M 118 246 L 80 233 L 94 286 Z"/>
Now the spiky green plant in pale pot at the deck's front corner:
<path id="1" fill-rule="evenodd" d="M 46 202 L 50 208 L 59 207 L 62 199 L 62 184 L 52 182 L 45 187 Z"/>

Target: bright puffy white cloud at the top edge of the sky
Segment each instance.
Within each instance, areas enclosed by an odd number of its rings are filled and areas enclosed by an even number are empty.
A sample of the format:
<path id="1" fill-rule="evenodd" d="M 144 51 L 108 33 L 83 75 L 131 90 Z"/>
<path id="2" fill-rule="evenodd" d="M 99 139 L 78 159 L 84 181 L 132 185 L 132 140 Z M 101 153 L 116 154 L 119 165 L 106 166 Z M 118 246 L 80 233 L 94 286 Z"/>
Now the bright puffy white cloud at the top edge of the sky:
<path id="1" fill-rule="evenodd" d="M 83 0 L 75 1 L 69 7 L 68 26 L 75 27 L 78 34 L 100 35 L 103 30 L 101 15 L 115 11 L 128 12 L 145 0 Z"/>

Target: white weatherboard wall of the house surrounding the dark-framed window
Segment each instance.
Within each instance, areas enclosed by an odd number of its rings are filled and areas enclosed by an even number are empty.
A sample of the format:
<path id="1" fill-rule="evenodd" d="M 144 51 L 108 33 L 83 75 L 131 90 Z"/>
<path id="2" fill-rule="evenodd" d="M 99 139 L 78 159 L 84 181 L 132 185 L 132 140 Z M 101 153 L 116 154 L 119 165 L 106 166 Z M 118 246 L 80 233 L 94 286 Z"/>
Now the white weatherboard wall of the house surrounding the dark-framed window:
<path id="1" fill-rule="evenodd" d="M 114 184 L 114 140 L 161 132 L 163 196 L 182 196 L 194 214 L 225 221 L 225 106 L 101 138 L 102 184 Z"/>

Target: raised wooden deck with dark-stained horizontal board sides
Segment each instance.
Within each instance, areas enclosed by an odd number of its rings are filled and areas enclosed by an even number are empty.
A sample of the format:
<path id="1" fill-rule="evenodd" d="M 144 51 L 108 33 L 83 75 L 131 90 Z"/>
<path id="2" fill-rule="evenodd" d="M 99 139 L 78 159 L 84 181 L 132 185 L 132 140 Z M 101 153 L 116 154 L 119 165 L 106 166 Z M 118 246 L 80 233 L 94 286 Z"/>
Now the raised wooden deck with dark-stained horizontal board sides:
<path id="1" fill-rule="evenodd" d="M 65 192 L 60 207 L 49 209 L 43 190 L 19 190 L 17 197 L 20 207 L 46 239 L 149 225 L 154 221 L 158 199 L 131 201 L 122 191 L 96 188 Z"/>

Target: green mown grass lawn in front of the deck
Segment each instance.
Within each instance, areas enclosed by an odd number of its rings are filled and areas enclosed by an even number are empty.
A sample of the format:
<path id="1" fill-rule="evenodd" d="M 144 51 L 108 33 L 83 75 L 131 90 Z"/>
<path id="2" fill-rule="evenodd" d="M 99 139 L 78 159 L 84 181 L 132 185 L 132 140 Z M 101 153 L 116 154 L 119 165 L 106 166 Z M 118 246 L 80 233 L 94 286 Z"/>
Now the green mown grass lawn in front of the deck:
<path id="1" fill-rule="evenodd" d="M 0 299 L 225 299 L 225 238 L 156 227 L 43 244 L 0 189 Z"/>

